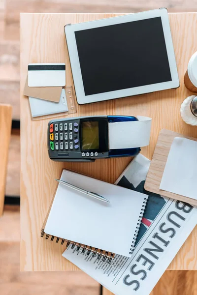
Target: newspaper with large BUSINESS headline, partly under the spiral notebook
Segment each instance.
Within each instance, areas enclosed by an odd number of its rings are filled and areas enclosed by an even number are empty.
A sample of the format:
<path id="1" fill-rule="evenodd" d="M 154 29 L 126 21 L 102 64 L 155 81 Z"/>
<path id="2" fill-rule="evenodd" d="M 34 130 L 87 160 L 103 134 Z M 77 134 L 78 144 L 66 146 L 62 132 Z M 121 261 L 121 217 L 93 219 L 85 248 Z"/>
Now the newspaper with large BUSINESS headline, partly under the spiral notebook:
<path id="1" fill-rule="evenodd" d="M 144 189 L 149 165 L 150 161 L 139 154 L 115 182 L 149 195 L 131 258 L 115 255 L 108 264 L 87 256 L 82 250 L 77 252 L 76 247 L 69 246 L 63 253 L 66 259 L 116 295 L 150 294 L 197 224 L 197 207 Z"/>

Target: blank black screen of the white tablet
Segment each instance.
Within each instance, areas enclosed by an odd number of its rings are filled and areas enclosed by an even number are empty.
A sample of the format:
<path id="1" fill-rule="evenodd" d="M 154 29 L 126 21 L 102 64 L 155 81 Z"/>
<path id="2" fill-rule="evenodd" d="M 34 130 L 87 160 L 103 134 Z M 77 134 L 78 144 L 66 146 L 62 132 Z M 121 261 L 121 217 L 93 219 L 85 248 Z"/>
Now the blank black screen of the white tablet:
<path id="1" fill-rule="evenodd" d="M 171 81 L 161 17 L 75 31 L 85 95 Z"/>

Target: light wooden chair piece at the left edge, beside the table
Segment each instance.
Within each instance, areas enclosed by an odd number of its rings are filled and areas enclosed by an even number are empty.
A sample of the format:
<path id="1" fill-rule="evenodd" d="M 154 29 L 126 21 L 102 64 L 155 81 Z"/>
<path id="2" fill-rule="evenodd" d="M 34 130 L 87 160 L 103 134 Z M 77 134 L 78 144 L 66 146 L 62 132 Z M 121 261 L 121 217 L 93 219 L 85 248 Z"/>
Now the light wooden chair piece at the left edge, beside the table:
<path id="1" fill-rule="evenodd" d="M 12 126 L 12 107 L 0 104 L 0 216 L 3 213 L 7 158 Z"/>

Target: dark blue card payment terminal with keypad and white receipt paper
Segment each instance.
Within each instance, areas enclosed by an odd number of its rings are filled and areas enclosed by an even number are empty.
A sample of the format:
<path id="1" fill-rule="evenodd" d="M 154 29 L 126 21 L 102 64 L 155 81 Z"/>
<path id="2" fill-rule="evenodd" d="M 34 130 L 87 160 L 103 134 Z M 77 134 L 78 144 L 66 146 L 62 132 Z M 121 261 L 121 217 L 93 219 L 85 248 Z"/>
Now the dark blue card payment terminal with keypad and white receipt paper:
<path id="1" fill-rule="evenodd" d="M 50 159 L 93 162 L 96 159 L 136 156 L 149 144 L 151 118 L 96 116 L 53 119 L 48 123 Z"/>

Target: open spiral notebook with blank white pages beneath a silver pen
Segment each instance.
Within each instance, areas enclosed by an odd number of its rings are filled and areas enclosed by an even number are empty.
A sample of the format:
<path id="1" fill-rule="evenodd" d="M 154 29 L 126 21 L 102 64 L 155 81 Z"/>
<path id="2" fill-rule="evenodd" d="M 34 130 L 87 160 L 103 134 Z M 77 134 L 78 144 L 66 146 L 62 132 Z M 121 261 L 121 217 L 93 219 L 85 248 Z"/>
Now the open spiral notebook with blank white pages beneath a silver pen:
<path id="1" fill-rule="evenodd" d="M 130 257 L 148 196 L 130 189 L 63 170 L 60 178 L 108 199 L 104 203 L 59 183 L 41 236 L 106 259 Z M 75 241 L 75 242 L 73 242 Z"/>

